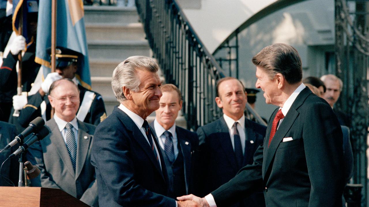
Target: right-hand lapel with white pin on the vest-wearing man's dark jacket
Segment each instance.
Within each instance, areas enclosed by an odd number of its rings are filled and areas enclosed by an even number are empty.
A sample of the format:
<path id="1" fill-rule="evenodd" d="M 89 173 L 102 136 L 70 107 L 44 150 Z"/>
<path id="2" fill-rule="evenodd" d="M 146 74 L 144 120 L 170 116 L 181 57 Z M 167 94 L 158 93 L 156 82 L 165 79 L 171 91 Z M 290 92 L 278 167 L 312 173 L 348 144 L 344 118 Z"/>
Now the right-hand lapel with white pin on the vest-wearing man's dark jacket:
<path id="1" fill-rule="evenodd" d="M 183 167 L 184 167 L 184 183 L 186 184 L 186 192 L 188 193 L 189 176 L 191 175 L 191 145 L 184 139 L 184 132 L 179 127 L 176 127 L 177 140 L 182 150 Z"/>

